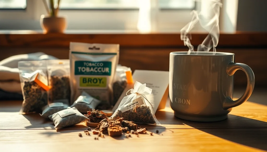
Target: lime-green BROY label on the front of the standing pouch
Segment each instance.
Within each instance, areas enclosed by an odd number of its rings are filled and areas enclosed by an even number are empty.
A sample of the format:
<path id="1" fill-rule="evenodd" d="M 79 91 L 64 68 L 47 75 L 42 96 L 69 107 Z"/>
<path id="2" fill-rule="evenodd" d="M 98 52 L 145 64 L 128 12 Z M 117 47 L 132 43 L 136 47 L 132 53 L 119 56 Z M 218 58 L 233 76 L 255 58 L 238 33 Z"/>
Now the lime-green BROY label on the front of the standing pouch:
<path id="1" fill-rule="evenodd" d="M 80 77 L 80 87 L 106 87 L 106 77 Z"/>

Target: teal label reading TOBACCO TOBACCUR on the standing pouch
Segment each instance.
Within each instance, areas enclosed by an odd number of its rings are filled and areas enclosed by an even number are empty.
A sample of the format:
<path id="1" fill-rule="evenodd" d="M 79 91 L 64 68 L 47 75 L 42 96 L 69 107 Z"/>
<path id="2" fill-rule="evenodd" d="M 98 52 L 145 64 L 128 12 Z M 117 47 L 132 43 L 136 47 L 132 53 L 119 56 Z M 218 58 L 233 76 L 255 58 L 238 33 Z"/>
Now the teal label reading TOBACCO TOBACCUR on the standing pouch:
<path id="1" fill-rule="evenodd" d="M 75 75 L 111 75 L 111 61 L 75 61 Z"/>

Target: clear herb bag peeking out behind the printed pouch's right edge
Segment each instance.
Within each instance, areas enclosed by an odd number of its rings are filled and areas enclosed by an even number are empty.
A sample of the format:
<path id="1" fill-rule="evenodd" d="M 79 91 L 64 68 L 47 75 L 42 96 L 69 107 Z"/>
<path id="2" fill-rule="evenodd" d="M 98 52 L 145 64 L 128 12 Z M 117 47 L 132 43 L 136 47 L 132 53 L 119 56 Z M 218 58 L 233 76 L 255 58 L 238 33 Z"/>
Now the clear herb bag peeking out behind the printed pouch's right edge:
<path id="1" fill-rule="evenodd" d="M 114 83 L 112 85 L 113 88 L 113 101 L 112 106 L 116 104 L 118 99 L 120 98 L 121 93 L 124 91 L 124 89 L 127 87 L 127 79 L 126 79 L 126 71 L 131 71 L 131 68 L 117 65 L 116 68 L 116 75 L 114 78 Z"/>

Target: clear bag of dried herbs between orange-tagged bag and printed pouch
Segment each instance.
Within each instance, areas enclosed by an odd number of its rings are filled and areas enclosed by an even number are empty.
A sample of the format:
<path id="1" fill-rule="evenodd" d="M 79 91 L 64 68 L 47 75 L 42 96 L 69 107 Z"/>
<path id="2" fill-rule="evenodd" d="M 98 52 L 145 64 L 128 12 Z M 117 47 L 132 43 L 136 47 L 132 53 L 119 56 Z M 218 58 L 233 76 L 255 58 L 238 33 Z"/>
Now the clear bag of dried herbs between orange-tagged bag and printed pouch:
<path id="1" fill-rule="evenodd" d="M 49 102 L 70 105 L 70 64 L 69 60 L 48 60 Z"/>

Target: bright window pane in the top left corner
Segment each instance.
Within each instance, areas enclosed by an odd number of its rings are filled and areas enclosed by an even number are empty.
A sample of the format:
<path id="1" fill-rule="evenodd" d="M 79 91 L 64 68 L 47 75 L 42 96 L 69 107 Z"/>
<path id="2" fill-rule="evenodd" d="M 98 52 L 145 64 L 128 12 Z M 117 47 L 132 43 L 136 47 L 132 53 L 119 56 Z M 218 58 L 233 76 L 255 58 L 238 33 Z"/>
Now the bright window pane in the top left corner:
<path id="1" fill-rule="evenodd" d="M 0 9 L 26 9 L 26 0 L 0 0 Z"/>

